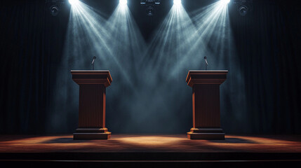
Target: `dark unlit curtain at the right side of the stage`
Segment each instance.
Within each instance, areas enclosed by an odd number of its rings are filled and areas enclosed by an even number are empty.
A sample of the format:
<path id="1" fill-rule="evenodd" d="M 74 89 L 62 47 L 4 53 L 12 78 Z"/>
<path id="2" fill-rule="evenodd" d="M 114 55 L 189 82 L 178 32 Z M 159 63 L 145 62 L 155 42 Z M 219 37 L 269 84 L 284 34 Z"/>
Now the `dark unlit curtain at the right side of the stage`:
<path id="1" fill-rule="evenodd" d="M 295 2 L 254 1 L 246 17 L 230 10 L 246 83 L 247 132 L 301 132 L 301 18 Z"/>

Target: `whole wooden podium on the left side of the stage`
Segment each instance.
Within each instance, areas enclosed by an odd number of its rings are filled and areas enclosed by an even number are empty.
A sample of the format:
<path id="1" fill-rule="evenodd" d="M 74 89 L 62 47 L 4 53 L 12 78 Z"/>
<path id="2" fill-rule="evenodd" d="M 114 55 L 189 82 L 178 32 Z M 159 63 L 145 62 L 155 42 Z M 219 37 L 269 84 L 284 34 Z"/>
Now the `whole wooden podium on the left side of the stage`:
<path id="1" fill-rule="evenodd" d="M 111 85 L 109 71 L 71 71 L 79 84 L 79 128 L 73 139 L 109 139 L 105 127 L 105 90 Z"/>

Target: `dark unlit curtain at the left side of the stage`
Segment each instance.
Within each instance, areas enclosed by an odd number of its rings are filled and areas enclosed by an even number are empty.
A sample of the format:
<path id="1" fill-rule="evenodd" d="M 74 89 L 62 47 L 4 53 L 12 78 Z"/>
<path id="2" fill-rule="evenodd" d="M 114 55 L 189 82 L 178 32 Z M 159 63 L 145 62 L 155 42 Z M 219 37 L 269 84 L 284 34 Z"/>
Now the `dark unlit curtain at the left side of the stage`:
<path id="1" fill-rule="evenodd" d="M 45 1 L 11 1 L 0 7 L 1 133 L 45 130 L 69 17 L 68 8 L 62 7 L 60 17 L 48 8 Z"/>

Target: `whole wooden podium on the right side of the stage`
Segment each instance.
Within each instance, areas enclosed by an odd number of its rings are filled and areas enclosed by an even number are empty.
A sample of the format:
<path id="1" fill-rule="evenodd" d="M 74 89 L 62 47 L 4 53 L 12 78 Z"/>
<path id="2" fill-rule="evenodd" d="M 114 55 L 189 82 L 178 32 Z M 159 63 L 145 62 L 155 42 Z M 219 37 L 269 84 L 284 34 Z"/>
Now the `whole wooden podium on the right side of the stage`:
<path id="1" fill-rule="evenodd" d="M 186 82 L 192 87 L 193 127 L 189 139 L 225 139 L 220 127 L 220 84 L 228 71 L 189 71 Z"/>

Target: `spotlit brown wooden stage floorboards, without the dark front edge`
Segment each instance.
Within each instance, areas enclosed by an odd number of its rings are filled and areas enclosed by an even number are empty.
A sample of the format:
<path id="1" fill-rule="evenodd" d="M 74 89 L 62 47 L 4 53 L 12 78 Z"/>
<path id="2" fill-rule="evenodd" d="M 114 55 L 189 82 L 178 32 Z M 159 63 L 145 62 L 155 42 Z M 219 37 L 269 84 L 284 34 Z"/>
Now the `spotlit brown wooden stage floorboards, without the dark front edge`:
<path id="1" fill-rule="evenodd" d="M 251 152 L 301 153 L 298 135 L 226 135 L 225 140 L 190 140 L 184 135 L 121 135 L 109 140 L 73 140 L 72 135 L 1 135 L 0 153 L 39 152 Z"/>

